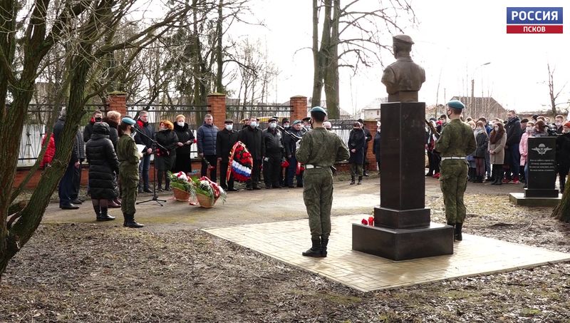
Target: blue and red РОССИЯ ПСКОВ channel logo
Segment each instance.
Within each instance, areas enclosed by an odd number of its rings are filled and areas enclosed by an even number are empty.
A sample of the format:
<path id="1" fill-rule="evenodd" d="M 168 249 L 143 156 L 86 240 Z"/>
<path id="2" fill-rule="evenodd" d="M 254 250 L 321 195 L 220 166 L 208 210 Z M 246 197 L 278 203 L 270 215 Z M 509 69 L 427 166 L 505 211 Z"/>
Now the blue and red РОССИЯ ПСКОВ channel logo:
<path id="1" fill-rule="evenodd" d="M 562 7 L 507 7 L 507 34 L 563 34 Z"/>

